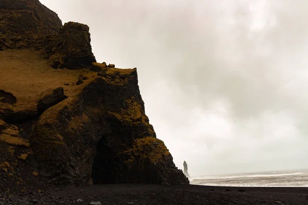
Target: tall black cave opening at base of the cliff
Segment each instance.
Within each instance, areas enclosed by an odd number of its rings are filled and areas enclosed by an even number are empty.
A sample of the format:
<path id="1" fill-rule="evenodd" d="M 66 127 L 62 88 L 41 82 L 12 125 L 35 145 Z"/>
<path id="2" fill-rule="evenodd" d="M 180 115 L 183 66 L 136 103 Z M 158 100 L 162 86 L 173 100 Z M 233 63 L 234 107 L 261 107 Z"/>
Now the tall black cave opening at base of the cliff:
<path id="1" fill-rule="evenodd" d="M 117 183 L 119 159 L 106 141 L 106 137 L 102 137 L 96 147 L 92 165 L 92 180 L 94 185 Z"/>

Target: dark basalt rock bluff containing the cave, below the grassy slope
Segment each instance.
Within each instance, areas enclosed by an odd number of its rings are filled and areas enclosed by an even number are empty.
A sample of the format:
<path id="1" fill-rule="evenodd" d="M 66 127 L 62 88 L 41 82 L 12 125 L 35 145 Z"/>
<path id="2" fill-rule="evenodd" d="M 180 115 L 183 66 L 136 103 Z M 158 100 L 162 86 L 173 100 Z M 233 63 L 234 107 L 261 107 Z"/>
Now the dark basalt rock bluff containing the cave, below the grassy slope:
<path id="1" fill-rule="evenodd" d="M 41 175 L 56 184 L 91 176 L 93 183 L 188 183 L 149 124 L 136 69 L 108 68 L 80 86 L 33 126 L 31 163 Z"/>

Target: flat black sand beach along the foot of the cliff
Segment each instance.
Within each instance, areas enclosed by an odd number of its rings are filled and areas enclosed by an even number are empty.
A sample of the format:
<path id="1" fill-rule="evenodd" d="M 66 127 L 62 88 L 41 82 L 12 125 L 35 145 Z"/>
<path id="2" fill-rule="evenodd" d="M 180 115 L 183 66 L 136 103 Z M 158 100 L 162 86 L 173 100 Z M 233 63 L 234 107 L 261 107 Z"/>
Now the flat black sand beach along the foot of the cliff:
<path id="1" fill-rule="evenodd" d="M 308 188 L 237 188 L 198 185 L 91 185 L 21 194 L 0 204 L 308 204 Z"/>

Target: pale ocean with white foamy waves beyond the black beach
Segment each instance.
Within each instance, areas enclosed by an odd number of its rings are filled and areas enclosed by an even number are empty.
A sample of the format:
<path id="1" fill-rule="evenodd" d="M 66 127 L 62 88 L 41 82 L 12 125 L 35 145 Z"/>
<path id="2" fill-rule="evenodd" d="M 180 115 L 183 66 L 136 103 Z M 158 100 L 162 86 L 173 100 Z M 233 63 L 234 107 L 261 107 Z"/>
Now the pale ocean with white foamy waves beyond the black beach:
<path id="1" fill-rule="evenodd" d="M 191 185 L 223 187 L 308 187 L 308 170 L 196 176 Z"/>

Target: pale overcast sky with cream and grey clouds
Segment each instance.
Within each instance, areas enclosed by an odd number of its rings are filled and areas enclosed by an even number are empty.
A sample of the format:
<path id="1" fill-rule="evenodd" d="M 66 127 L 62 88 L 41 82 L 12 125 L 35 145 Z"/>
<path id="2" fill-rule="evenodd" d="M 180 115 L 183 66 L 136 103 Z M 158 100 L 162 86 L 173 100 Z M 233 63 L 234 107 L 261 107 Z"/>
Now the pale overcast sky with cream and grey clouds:
<path id="1" fill-rule="evenodd" d="M 137 67 L 145 111 L 191 176 L 308 168 L 308 1 L 41 0 Z"/>

